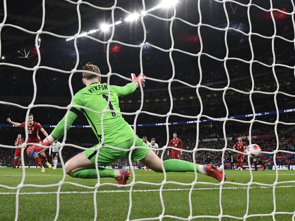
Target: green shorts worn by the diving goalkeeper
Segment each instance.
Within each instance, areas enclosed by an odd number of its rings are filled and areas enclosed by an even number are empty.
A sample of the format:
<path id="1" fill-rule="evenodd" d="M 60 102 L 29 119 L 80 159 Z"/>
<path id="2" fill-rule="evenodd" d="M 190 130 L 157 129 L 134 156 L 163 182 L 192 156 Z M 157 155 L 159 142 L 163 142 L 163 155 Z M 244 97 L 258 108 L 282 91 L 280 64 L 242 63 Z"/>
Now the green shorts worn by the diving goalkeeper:
<path id="1" fill-rule="evenodd" d="M 143 147 L 148 147 L 148 145 L 146 145 L 142 139 L 140 139 L 137 135 L 135 138 L 135 146 L 143 146 Z M 113 149 L 110 147 L 102 147 L 98 153 L 98 157 L 97 157 L 97 163 L 98 166 L 108 166 L 111 163 L 115 162 L 116 160 L 124 157 L 127 158 L 129 157 L 129 152 L 130 151 L 124 151 L 123 149 L 130 149 L 130 147 L 133 144 L 133 138 L 130 140 L 127 140 L 123 143 L 120 143 L 118 145 L 115 145 L 116 147 L 121 148 L 122 150 L 118 150 L 118 149 Z M 96 148 L 97 146 L 99 146 L 98 144 L 96 144 L 95 146 L 91 147 L 91 148 Z M 149 148 L 149 147 L 148 147 Z M 148 152 L 150 151 L 150 149 L 145 149 L 145 148 L 136 148 L 134 150 L 132 150 L 131 153 L 131 160 L 134 162 L 138 162 L 141 159 L 143 159 Z M 85 150 L 84 151 L 86 157 L 92 162 L 95 163 L 95 158 L 96 158 L 96 153 L 97 150 Z"/>

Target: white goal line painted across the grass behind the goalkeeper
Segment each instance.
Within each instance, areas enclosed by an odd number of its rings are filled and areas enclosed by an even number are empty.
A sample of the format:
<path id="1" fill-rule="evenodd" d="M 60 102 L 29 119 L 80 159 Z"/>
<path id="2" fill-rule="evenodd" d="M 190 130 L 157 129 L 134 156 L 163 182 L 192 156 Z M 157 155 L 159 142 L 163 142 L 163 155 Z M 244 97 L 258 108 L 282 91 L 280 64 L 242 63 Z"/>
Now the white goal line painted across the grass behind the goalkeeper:
<path id="1" fill-rule="evenodd" d="M 288 186 L 277 186 L 276 188 L 291 188 L 295 187 L 295 185 Z M 247 189 L 248 187 L 223 187 L 222 189 Z M 250 189 L 266 189 L 273 188 L 272 186 L 260 186 L 260 187 L 250 187 Z M 194 188 L 193 190 L 219 190 L 219 187 L 208 187 L 208 188 Z M 189 191 L 191 188 L 177 188 L 177 189 L 163 189 L 162 191 Z M 130 192 L 130 190 L 103 190 L 97 191 L 97 193 L 122 193 L 122 192 Z M 147 190 L 132 190 L 132 192 L 159 192 L 159 189 L 147 189 Z M 94 191 L 61 191 L 60 194 L 87 194 L 94 193 Z M 0 195 L 15 195 L 15 192 L 0 192 Z M 20 192 L 19 195 L 45 195 L 45 194 L 57 194 L 55 192 Z"/>

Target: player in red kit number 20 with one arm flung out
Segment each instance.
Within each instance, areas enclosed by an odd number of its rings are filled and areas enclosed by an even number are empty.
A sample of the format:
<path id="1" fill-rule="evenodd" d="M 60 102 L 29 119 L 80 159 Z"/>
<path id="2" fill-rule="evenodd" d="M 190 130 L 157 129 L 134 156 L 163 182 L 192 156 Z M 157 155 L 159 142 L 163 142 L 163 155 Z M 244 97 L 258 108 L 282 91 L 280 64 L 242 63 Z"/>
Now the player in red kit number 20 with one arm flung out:
<path id="1" fill-rule="evenodd" d="M 22 122 L 22 123 L 17 123 L 17 122 L 13 122 L 10 120 L 10 118 L 7 118 L 6 119 L 7 122 L 13 124 L 14 126 L 22 126 L 25 128 L 26 130 L 26 122 Z M 39 136 L 39 130 L 46 136 L 48 137 L 48 134 L 47 132 L 43 129 L 43 127 L 37 123 L 37 122 L 34 122 L 33 121 L 33 114 L 29 114 L 29 117 L 28 117 L 28 134 L 29 134 L 29 138 L 28 138 L 28 142 L 29 143 L 42 143 L 42 140 L 40 140 L 40 136 Z M 42 151 L 44 148 L 42 147 L 39 147 L 39 146 L 35 146 L 35 145 L 29 145 L 28 149 L 27 149 L 27 155 L 28 157 L 34 157 L 35 158 L 35 161 L 37 163 L 37 165 L 39 165 L 41 167 L 41 172 L 45 172 L 45 169 L 41 163 L 41 160 L 38 156 L 38 152 Z M 41 157 L 43 158 L 43 160 L 45 161 L 45 164 L 51 168 L 51 164 L 48 163 L 47 161 L 47 157 L 45 155 L 44 152 L 40 153 Z"/>

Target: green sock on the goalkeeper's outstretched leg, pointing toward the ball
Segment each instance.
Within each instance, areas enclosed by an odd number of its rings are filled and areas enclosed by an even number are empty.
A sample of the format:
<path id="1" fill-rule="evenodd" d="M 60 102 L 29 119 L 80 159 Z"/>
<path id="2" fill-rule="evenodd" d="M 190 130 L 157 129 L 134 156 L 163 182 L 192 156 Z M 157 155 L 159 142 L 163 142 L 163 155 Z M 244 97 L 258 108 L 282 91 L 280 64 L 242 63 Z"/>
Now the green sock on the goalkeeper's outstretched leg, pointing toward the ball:
<path id="1" fill-rule="evenodd" d="M 166 172 L 195 172 L 194 167 L 198 173 L 206 174 L 203 165 L 194 164 L 183 160 L 166 160 L 163 161 L 164 169 Z"/>

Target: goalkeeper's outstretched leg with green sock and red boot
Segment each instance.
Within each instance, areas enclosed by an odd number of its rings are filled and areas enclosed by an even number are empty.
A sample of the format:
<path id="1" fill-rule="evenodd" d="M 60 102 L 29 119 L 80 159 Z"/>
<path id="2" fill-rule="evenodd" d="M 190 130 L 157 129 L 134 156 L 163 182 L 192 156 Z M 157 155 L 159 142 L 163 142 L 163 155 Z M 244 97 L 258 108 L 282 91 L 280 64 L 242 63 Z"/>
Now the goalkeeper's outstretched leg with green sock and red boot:
<path id="1" fill-rule="evenodd" d="M 150 150 L 148 154 L 140 160 L 148 168 L 151 168 L 155 172 L 162 173 L 162 160 Z M 215 166 L 209 165 L 198 165 L 188 161 L 171 159 L 163 161 L 163 166 L 166 172 L 194 172 L 195 169 L 198 173 L 202 173 L 207 176 L 211 176 L 218 181 L 222 181 L 222 171 L 217 169 Z M 224 174 L 224 181 L 226 181 L 226 176 Z"/>

